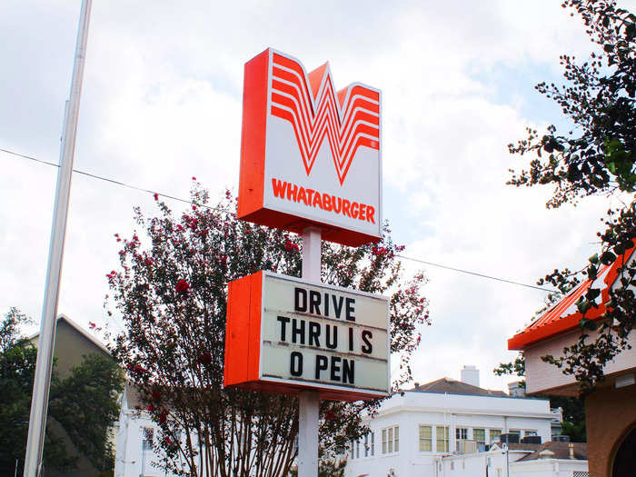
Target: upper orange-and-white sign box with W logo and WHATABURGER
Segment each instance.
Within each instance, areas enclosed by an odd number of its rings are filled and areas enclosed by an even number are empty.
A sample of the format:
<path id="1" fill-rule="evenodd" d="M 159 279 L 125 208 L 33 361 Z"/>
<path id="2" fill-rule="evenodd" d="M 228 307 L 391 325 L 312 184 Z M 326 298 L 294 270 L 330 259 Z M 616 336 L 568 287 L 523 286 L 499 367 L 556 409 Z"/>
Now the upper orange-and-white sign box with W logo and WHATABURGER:
<path id="1" fill-rule="evenodd" d="M 382 233 L 382 94 L 271 48 L 245 65 L 238 216 L 351 246 Z"/>

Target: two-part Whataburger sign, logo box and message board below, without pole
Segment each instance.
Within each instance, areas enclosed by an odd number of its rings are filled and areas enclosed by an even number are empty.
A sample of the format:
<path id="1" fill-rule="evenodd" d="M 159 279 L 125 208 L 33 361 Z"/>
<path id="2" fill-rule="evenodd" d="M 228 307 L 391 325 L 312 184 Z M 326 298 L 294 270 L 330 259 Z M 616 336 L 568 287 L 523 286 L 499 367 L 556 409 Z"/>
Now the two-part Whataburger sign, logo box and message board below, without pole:
<path id="1" fill-rule="evenodd" d="M 381 93 L 265 50 L 245 65 L 238 216 L 359 246 L 382 225 Z M 229 284 L 224 384 L 354 401 L 390 391 L 388 299 L 276 273 Z"/>

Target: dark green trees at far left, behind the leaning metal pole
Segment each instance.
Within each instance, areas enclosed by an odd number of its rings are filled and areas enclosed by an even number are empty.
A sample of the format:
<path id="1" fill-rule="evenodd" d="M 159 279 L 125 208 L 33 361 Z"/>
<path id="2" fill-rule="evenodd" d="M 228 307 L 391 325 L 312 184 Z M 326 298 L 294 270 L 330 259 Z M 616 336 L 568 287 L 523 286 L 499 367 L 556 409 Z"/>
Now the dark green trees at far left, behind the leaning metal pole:
<path id="1" fill-rule="evenodd" d="M 0 474 L 24 465 L 31 394 L 37 350 L 19 328 L 32 323 L 12 308 L 0 326 Z M 97 354 L 84 356 L 84 362 L 61 379 L 51 378 L 49 420 L 59 422 L 75 448 L 100 471 L 114 468 L 114 450 L 109 432 L 118 417 L 117 395 L 123 391 L 123 373 L 112 359 Z M 46 428 L 45 468 L 70 471 L 76 458 L 68 454 L 55 431 Z"/>

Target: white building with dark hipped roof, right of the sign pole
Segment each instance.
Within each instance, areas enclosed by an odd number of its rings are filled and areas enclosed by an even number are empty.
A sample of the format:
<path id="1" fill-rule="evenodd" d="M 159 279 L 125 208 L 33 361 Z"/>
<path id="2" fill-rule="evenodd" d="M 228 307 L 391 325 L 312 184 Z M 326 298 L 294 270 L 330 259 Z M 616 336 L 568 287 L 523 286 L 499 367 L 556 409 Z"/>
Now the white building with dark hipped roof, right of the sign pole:
<path id="1" fill-rule="evenodd" d="M 475 371 L 468 368 L 462 377 L 479 383 Z M 352 442 L 345 475 L 482 475 L 472 472 L 472 467 L 485 472 L 483 462 L 488 462 L 489 457 L 491 465 L 494 461 L 500 462 L 502 450 L 494 449 L 488 452 L 490 455 L 479 451 L 499 442 L 502 433 L 517 434 L 520 440 L 539 436 L 542 442 L 550 442 L 553 418 L 547 399 L 512 398 L 500 391 L 447 378 L 416 385 L 411 391 L 393 395 L 383 403 L 377 415 L 366 422 L 371 432 Z M 525 447 L 526 452 L 510 451 L 514 453 L 508 456 L 512 462 L 538 449 L 539 445 Z M 473 457 L 468 459 L 469 455 Z M 469 471 L 465 470 L 467 465 Z M 497 468 L 500 473 L 496 472 Z M 494 465 L 490 473 L 483 475 L 509 475 L 501 473 L 502 469 L 501 465 Z"/>

